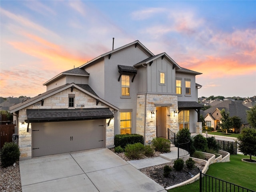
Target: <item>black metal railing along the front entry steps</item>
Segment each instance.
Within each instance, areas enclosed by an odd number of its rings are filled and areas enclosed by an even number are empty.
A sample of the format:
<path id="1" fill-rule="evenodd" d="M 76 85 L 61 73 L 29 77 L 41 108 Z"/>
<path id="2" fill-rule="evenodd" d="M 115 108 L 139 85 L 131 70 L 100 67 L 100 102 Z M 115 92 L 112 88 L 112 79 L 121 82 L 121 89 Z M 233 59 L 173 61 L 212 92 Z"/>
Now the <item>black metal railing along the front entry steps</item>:
<path id="1" fill-rule="evenodd" d="M 178 159 L 190 154 L 190 140 L 177 137 L 174 132 L 168 129 L 168 140 L 178 148 Z"/>

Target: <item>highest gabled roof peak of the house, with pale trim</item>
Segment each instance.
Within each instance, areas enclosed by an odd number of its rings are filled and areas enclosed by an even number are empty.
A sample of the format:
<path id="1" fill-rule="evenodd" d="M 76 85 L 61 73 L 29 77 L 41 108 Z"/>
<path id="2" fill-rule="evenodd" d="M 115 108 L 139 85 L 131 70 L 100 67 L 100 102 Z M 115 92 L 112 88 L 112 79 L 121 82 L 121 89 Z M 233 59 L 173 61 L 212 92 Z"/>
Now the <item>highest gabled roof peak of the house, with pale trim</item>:
<path id="1" fill-rule="evenodd" d="M 102 55 L 100 55 L 100 56 L 94 58 L 93 60 L 90 60 L 89 62 L 83 64 L 83 65 L 80 66 L 79 68 L 84 68 L 84 67 L 86 67 L 86 66 L 92 64 L 93 62 L 97 61 L 97 60 L 103 59 L 105 56 L 109 56 L 109 58 L 110 58 L 110 57 L 111 57 L 111 54 L 113 54 L 113 53 L 115 53 L 115 52 L 118 52 L 118 51 L 120 51 L 120 50 L 122 50 L 122 49 L 128 48 L 128 47 L 130 47 L 130 46 L 135 46 L 135 47 L 139 46 L 140 48 L 142 48 L 142 50 L 143 50 L 144 52 L 146 52 L 146 54 L 148 54 L 148 56 L 154 56 L 154 54 L 153 54 L 150 50 L 148 50 L 139 40 L 136 40 L 136 41 L 134 41 L 134 42 L 132 42 L 132 43 L 129 43 L 129 44 L 127 44 L 127 45 L 124 45 L 124 46 L 122 46 L 122 47 L 120 47 L 120 48 L 117 48 L 117 49 L 114 49 L 114 50 L 109 51 L 109 52 L 107 52 L 107 53 L 104 53 L 104 54 L 102 54 Z"/>

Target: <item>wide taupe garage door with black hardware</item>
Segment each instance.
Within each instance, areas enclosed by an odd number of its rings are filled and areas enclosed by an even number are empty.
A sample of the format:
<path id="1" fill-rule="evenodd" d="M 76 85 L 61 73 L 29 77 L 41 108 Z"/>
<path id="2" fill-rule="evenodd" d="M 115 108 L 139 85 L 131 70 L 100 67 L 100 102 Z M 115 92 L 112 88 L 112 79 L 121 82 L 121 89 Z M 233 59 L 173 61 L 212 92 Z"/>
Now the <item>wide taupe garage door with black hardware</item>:
<path id="1" fill-rule="evenodd" d="M 32 124 L 32 156 L 104 147 L 104 120 Z"/>

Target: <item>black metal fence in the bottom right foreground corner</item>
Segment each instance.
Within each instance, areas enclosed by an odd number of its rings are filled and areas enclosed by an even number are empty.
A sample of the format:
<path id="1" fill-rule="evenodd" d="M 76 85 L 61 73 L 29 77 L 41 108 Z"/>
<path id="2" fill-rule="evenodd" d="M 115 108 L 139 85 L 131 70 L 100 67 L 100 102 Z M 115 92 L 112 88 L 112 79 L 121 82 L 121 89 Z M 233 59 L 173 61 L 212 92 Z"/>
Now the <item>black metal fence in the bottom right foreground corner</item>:
<path id="1" fill-rule="evenodd" d="M 203 174 L 200 170 L 199 192 L 255 192 L 253 190 Z"/>

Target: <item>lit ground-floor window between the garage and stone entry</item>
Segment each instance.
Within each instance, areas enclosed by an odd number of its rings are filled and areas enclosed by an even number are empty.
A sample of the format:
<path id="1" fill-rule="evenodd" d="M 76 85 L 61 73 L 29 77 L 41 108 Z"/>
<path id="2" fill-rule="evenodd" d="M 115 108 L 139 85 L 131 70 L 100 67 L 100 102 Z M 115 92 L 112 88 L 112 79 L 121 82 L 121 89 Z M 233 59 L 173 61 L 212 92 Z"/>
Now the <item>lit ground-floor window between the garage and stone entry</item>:
<path id="1" fill-rule="evenodd" d="M 120 112 L 120 134 L 131 134 L 132 112 Z"/>

